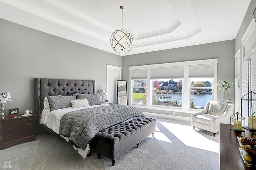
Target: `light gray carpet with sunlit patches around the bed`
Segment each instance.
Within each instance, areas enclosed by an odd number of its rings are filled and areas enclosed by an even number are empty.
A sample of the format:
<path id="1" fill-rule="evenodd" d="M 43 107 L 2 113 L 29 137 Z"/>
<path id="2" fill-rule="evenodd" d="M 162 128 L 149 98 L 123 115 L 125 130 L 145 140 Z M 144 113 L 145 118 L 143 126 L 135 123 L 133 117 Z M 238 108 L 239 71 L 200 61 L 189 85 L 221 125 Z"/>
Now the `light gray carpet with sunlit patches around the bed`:
<path id="1" fill-rule="evenodd" d="M 39 135 L 33 142 L 0 151 L 0 168 L 12 170 L 218 170 L 219 134 L 193 130 L 190 122 L 156 118 L 156 133 L 116 159 L 84 160 L 72 145 L 56 136 Z M 6 168 L 4 162 L 11 162 Z"/>

